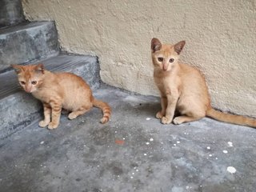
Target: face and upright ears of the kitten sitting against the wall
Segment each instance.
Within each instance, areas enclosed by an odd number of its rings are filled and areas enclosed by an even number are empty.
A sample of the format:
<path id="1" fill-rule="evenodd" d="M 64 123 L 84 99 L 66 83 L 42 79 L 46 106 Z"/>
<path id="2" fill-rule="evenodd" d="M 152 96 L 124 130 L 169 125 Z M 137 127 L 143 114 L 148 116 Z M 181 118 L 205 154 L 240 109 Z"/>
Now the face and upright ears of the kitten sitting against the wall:
<path id="1" fill-rule="evenodd" d="M 178 42 L 174 46 L 162 44 L 158 38 L 151 41 L 151 55 L 155 68 L 162 71 L 170 71 L 178 62 L 179 54 L 185 46 L 185 41 Z"/>

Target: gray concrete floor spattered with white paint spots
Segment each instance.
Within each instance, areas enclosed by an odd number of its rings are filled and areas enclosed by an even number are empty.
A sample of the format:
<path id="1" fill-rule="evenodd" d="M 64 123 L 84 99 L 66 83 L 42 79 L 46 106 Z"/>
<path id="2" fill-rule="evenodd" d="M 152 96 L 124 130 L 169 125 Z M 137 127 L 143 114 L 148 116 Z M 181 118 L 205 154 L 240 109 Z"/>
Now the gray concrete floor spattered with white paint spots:
<path id="1" fill-rule="evenodd" d="M 107 86 L 94 96 L 113 107 L 105 125 L 94 108 L 0 142 L 0 191 L 256 191 L 255 129 L 210 118 L 164 126 L 158 98 Z"/>

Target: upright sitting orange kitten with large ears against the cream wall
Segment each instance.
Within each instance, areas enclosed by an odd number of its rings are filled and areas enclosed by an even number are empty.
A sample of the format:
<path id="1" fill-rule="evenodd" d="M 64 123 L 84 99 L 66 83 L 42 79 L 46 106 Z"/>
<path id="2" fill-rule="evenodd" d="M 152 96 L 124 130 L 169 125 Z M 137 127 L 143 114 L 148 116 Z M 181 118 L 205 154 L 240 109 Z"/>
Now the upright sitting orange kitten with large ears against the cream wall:
<path id="1" fill-rule="evenodd" d="M 163 124 L 181 124 L 208 116 L 221 122 L 256 127 L 254 118 L 225 114 L 211 107 L 202 74 L 192 66 L 178 63 L 183 46 L 185 41 L 174 46 L 162 44 L 157 38 L 151 41 L 154 82 L 160 90 L 162 106 L 156 118 L 162 119 Z M 174 118 L 175 112 L 180 116 Z"/>

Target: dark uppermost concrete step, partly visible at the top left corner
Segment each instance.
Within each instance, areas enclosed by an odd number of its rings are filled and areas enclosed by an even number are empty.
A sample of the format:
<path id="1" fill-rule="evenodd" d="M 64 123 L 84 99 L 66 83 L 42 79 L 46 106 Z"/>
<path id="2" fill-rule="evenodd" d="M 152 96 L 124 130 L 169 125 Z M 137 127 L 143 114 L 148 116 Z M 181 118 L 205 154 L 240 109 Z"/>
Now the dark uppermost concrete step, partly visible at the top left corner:
<path id="1" fill-rule="evenodd" d="M 11 26 L 24 21 L 21 0 L 0 1 L 0 27 Z"/>

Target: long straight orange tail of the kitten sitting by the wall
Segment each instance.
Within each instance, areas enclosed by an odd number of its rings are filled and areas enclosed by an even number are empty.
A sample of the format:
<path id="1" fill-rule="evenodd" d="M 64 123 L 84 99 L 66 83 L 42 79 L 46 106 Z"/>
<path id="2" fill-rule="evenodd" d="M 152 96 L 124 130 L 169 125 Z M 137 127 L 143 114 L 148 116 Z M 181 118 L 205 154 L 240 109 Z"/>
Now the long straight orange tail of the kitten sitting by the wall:
<path id="1" fill-rule="evenodd" d="M 214 118 L 220 122 L 229 122 L 240 126 L 251 126 L 256 128 L 256 119 L 246 118 L 242 115 L 226 114 L 218 110 L 210 108 L 206 111 L 206 116 Z"/>

